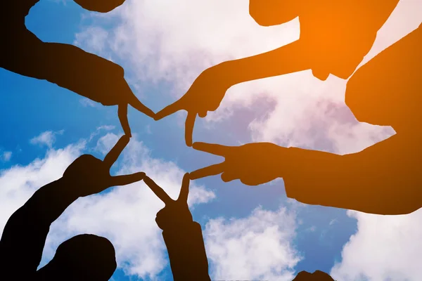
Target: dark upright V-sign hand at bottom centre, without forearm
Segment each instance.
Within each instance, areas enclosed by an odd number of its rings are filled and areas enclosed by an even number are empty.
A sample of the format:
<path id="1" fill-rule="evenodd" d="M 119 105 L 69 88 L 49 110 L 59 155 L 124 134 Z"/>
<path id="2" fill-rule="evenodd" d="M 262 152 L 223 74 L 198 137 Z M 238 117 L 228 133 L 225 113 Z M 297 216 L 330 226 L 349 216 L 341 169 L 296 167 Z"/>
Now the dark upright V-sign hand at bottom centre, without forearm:
<path id="1" fill-rule="evenodd" d="M 143 181 L 153 190 L 155 195 L 164 202 L 165 207 L 158 211 L 155 222 L 162 230 L 183 228 L 187 223 L 192 223 L 193 218 L 188 208 L 189 174 L 185 174 L 181 183 L 181 190 L 177 200 L 172 200 L 151 178 L 145 176 Z"/>

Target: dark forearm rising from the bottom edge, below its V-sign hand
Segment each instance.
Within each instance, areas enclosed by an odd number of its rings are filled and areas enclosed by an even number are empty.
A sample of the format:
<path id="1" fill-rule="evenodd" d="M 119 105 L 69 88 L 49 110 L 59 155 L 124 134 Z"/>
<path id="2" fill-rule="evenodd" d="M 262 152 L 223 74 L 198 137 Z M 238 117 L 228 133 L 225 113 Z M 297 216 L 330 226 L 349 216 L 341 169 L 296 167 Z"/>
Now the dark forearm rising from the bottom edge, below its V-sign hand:
<path id="1" fill-rule="evenodd" d="M 208 261 L 200 225 L 196 222 L 162 232 L 174 281 L 209 281 Z"/>

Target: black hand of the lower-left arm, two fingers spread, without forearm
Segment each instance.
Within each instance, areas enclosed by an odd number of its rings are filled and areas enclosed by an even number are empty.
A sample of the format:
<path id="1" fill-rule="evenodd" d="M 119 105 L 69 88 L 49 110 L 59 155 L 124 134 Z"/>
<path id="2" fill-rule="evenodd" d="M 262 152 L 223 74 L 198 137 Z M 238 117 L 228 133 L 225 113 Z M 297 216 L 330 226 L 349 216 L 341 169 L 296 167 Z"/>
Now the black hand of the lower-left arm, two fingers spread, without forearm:
<path id="1" fill-rule="evenodd" d="M 74 185 L 79 197 L 93 195 L 112 186 L 128 185 L 141 181 L 145 176 L 143 172 L 124 176 L 110 176 L 111 166 L 127 143 L 129 143 L 129 137 L 122 136 L 103 161 L 92 155 L 80 156 L 65 170 L 63 179 Z"/>

